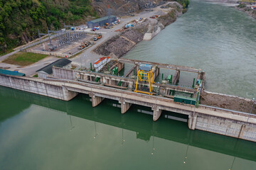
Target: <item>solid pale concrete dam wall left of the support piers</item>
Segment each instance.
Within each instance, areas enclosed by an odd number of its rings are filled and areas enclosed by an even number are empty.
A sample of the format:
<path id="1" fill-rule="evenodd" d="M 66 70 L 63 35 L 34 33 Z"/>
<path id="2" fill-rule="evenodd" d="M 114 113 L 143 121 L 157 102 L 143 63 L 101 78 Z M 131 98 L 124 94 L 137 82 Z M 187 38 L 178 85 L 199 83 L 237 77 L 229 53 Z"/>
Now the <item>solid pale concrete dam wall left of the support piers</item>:
<path id="1" fill-rule="evenodd" d="M 23 79 L 22 77 L 6 76 L 3 74 L 0 74 L 0 85 L 21 91 L 28 91 L 33 94 L 58 98 L 63 101 L 69 101 L 78 94 L 73 91 L 68 91 L 63 86 L 54 86 L 52 84 Z"/>

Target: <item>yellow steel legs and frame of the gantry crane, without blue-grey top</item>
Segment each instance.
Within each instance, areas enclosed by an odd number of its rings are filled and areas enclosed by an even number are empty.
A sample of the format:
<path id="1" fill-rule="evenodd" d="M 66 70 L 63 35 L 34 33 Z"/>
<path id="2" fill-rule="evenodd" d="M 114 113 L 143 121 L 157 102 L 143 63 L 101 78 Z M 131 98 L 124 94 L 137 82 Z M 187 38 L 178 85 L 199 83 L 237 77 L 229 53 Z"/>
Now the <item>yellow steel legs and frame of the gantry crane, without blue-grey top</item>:
<path id="1" fill-rule="evenodd" d="M 144 79 L 144 77 L 146 77 L 147 79 Z M 139 81 L 149 82 L 149 92 L 137 90 Z M 137 72 L 137 81 L 136 81 L 136 87 L 135 87 L 134 92 L 153 95 L 153 93 L 152 93 L 152 91 L 153 91 L 152 84 L 154 84 L 154 74 L 153 74 L 152 69 L 149 72 L 145 72 L 145 71 L 139 69 L 139 71 Z"/>

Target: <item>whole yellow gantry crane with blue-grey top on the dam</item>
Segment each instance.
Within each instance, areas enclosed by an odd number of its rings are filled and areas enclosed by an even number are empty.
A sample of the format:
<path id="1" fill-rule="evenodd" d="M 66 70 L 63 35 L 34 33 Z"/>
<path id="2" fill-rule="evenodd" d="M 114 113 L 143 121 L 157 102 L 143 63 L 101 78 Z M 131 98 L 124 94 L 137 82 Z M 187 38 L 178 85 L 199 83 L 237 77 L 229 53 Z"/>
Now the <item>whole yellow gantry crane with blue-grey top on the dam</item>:
<path id="1" fill-rule="evenodd" d="M 137 90 L 139 81 L 148 82 L 149 83 L 149 91 Z M 135 87 L 134 92 L 153 95 L 152 84 L 154 84 L 154 74 L 153 74 L 152 66 L 149 64 L 140 64 L 139 71 L 137 72 L 137 81 L 136 81 L 136 87 Z"/>

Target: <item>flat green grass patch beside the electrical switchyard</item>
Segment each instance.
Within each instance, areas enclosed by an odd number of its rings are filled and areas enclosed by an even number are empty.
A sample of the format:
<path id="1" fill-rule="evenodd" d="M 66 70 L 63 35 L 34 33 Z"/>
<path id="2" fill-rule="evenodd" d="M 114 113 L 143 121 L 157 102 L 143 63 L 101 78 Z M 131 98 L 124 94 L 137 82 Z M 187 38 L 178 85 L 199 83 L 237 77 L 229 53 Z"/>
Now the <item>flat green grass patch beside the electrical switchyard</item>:
<path id="1" fill-rule="evenodd" d="M 41 54 L 36 54 L 36 53 L 32 53 L 32 52 L 18 52 L 14 55 L 11 55 L 3 62 L 8 63 L 8 64 L 27 66 L 29 64 L 38 62 L 39 60 L 42 60 L 46 56 L 48 56 L 48 55 L 41 55 Z"/>

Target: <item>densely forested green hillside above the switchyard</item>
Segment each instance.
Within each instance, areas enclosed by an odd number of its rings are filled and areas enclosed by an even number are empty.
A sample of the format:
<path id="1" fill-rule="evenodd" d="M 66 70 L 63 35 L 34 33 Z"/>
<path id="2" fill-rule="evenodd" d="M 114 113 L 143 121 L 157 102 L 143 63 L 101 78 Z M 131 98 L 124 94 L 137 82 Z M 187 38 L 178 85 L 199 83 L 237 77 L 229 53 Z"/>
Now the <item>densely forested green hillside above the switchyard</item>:
<path id="1" fill-rule="evenodd" d="M 84 23 L 96 15 L 90 0 L 0 0 L 0 54 L 37 38 L 38 29 Z"/>

